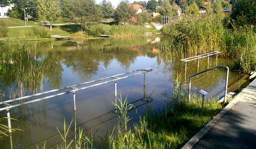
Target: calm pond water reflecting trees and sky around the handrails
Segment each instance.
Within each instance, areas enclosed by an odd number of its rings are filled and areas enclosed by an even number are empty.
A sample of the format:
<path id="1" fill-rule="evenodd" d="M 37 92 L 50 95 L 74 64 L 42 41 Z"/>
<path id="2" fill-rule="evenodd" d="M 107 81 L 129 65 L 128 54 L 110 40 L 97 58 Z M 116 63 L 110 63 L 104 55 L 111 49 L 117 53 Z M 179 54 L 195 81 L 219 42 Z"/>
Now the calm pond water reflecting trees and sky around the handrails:
<path id="1" fill-rule="evenodd" d="M 181 87 L 188 90 L 188 76 L 216 65 L 225 65 L 230 68 L 228 92 L 237 92 L 246 81 L 246 75 L 240 75 L 231 71 L 234 62 L 232 59 L 224 59 L 216 55 L 202 58 L 197 67 L 197 60 L 187 63 L 185 76 L 185 63 L 180 59 L 190 56 L 172 53 L 160 54 L 160 50 L 168 49 L 164 46 L 166 39 L 160 36 L 145 36 L 137 38 L 105 38 L 95 40 L 76 41 L 48 41 L 17 43 L 24 45 L 24 51 L 16 53 L 12 64 L 6 72 L 10 73 L 1 77 L 1 102 L 35 93 L 58 89 L 75 84 L 81 84 L 142 68 L 153 68 L 145 73 L 145 93 L 150 100 L 145 102 L 144 75 L 129 77 L 117 81 L 118 99 L 133 103 L 136 110 L 128 112 L 129 127 L 139 120 L 139 116 L 148 106 L 153 108 L 164 106 L 163 93 L 171 97 L 171 89 L 174 79 L 181 74 Z M 77 42 L 82 45 L 76 46 Z M 5 45 L 3 48 L 16 48 L 17 44 Z M 3 55 L 2 55 L 3 56 Z M 15 59 L 15 60 L 14 60 Z M 15 70 L 12 70 L 15 69 Z M 12 73 L 15 72 L 15 73 Z M 186 78 L 186 79 L 185 79 Z M 226 70 L 215 69 L 192 79 L 193 93 L 203 89 L 210 97 L 224 97 Z M 244 81 L 245 80 L 245 81 Z M 240 83 L 241 81 L 241 83 Z M 233 85 L 237 84 L 239 85 Z M 92 84 L 89 84 L 92 85 Z M 83 86 L 84 87 L 84 86 Z M 71 91 L 66 89 L 65 91 Z M 50 93 L 50 95 L 58 94 Z M 24 99 L 16 102 L 26 102 L 45 97 L 45 95 Z M 74 117 L 76 125 L 83 131 L 95 134 L 94 141 L 103 137 L 107 131 L 117 128 L 117 114 L 115 111 L 115 84 L 114 82 L 77 91 L 75 93 L 76 111 L 74 112 L 73 94 L 65 94 L 44 101 L 15 107 L 11 109 L 11 127 L 21 129 L 15 131 L 9 137 L 0 140 L 0 148 L 19 149 L 39 148 L 46 142 L 47 148 L 56 148 L 62 143 L 59 132 L 64 131 L 71 123 L 71 129 L 67 138 L 74 139 Z M 14 102 L 13 102 L 14 103 Z M 6 111 L 1 111 L 1 118 L 6 117 Z M 1 121 L 7 125 L 7 120 Z M 58 130 L 57 130 L 58 129 Z M 78 130 L 78 128 L 77 128 Z"/>

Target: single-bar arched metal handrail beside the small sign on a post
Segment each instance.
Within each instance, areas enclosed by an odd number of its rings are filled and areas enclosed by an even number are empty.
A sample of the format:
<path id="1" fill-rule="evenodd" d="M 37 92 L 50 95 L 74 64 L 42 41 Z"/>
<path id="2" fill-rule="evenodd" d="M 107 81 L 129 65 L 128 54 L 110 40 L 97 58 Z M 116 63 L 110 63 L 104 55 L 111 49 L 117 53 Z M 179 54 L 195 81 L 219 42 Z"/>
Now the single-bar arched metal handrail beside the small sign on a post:
<path id="1" fill-rule="evenodd" d="M 189 76 L 189 88 L 188 88 L 188 99 L 189 99 L 189 100 L 190 100 L 190 94 L 191 94 L 191 77 L 200 75 L 200 74 L 202 74 L 202 73 L 204 73 L 204 72 L 207 72 L 207 71 L 216 69 L 216 68 L 218 68 L 218 67 L 227 68 L 226 84 L 225 84 L 225 94 L 224 94 L 224 102 L 226 102 L 229 68 L 228 68 L 228 66 L 221 66 L 221 65 L 212 67 L 212 68 L 210 68 L 210 69 L 203 70 L 203 71 L 201 71 L 201 72 L 198 72 L 198 73 L 196 73 L 196 74 L 193 74 L 193 75 L 190 75 L 190 76 Z"/>

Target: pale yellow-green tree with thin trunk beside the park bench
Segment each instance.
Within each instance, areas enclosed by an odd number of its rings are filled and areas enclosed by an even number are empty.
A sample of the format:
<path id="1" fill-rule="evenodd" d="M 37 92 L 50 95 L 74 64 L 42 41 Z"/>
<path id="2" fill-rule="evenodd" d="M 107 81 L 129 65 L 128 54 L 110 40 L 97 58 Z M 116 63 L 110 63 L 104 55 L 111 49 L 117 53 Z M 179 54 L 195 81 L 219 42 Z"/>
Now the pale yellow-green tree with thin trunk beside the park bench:
<path id="1" fill-rule="evenodd" d="M 60 14 L 59 4 L 60 3 L 58 0 L 39 1 L 39 9 L 42 16 L 44 16 L 46 20 L 50 22 L 50 30 L 52 30 L 52 22 L 56 21 Z"/>

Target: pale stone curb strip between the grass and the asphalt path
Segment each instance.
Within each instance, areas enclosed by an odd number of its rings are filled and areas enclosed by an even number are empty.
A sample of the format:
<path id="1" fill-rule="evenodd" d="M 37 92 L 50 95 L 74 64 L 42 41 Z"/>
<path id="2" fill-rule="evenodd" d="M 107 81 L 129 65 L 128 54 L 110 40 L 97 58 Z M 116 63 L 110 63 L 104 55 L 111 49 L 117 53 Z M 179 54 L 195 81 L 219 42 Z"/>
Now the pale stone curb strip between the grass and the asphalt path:
<path id="1" fill-rule="evenodd" d="M 191 149 L 220 119 L 237 103 L 232 100 L 219 112 L 210 122 L 208 122 L 194 137 L 192 137 L 181 149 Z"/>

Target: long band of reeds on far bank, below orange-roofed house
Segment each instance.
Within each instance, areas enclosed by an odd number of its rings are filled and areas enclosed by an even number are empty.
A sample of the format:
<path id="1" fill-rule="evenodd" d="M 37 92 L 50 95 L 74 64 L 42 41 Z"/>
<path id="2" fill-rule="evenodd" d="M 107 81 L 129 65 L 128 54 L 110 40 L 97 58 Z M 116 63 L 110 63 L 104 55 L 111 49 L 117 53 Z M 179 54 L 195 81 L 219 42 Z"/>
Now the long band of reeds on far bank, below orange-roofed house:
<path id="1" fill-rule="evenodd" d="M 112 36 L 141 36 L 145 33 L 145 28 L 134 25 L 114 25 L 110 29 Z"/>

